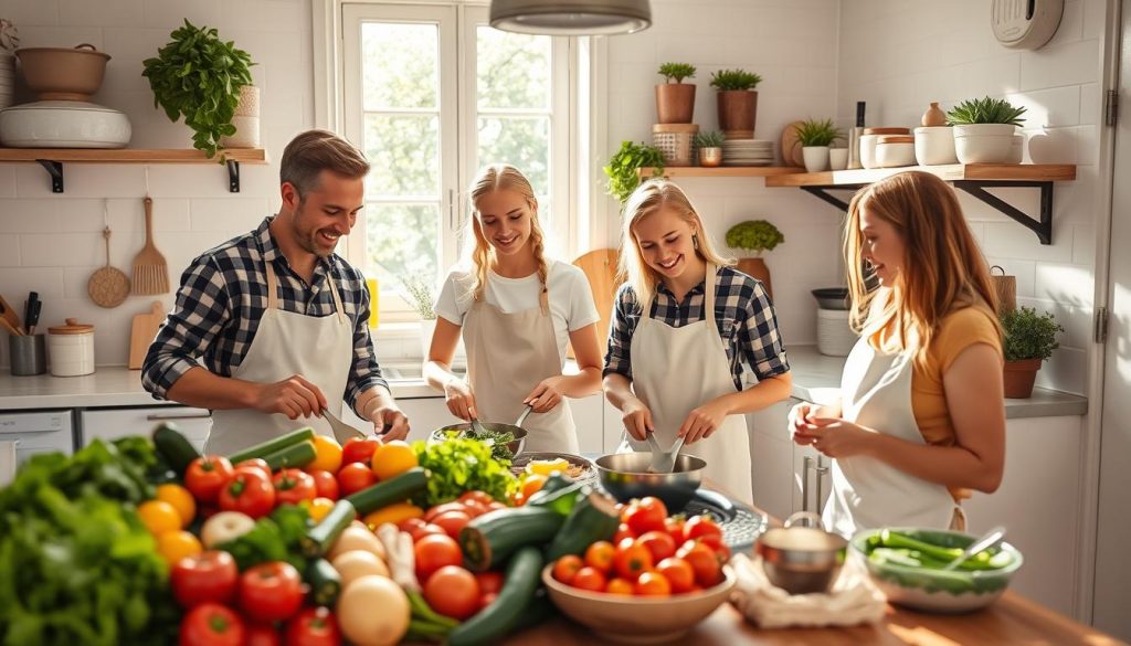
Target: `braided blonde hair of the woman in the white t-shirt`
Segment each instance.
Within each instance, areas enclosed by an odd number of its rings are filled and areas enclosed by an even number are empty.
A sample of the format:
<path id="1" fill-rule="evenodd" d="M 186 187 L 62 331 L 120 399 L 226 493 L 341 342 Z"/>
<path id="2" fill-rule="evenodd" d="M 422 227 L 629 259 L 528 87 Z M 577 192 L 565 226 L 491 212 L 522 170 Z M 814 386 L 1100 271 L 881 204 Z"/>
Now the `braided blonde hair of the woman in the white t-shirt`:
<path id="1" fill-rule="evenodd" d="M 494 250 L 483 235 L 483 224 L 480 222 L 480 199 L 483 196 L 498 190 L 515 191 L 526 199 L 530 208 L 530 250 L 534 252 L 534 260 L 538 265 L 538 282 L 542 291 L 546 291 L 546 276 L 549 269 L 545 258 L 545 234 L 542 233 L 542 225 L 538 224 L 538 201 L 534 197 L 534 187 L 518 169 L 510 164 L 491 164 L 480 171 L 472 184 L 472 233 L 475 236 L 475 246 L 468 250 L 472 272 L 469 273 L 469 291 L 476 301 L 483 300 L 483 294 L 487 285 L 487 270 Z"/>

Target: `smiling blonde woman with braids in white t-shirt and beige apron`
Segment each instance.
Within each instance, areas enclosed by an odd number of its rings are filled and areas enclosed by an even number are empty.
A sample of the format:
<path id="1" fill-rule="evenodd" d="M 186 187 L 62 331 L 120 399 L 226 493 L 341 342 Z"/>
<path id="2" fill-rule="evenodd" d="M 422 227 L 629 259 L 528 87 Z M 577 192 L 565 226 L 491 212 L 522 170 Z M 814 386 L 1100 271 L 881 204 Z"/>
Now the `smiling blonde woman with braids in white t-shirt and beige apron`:
<path id="1" fill-rule="evenodd" d="M 577 267 L 545 257 L 538 203 L 517 169 L 487 166 L 470 198 L 470 258 L 440 290 L 425 379 L 465 421 L 513 423 L 530 406 L 525 450 L 576 454 L 564 399 L 601 389 L 599 317 L 589 283 Z M 460 335 L 466 378 L 451 371 Z M 577 374 L 562 374 L 567 343 Z"/>

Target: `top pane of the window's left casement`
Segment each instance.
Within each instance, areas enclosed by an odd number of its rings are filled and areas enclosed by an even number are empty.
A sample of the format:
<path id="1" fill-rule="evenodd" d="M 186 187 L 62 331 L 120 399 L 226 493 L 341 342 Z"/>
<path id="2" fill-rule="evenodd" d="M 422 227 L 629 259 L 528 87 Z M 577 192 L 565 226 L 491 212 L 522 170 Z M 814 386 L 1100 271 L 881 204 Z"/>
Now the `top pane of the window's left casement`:
<path id="1" fill-rule="evenodd" d="M 435 107 L 440 95 L 437 25 L 361 26 L 364 110 Z"/>

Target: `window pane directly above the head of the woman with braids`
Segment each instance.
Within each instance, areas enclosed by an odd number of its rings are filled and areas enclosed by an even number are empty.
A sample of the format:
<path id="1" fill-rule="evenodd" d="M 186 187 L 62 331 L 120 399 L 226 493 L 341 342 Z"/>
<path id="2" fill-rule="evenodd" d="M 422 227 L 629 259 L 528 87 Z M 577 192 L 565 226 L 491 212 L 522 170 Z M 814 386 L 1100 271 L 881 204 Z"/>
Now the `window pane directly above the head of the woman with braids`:
<path id="1" fill-rule="evenodd" d="M 507 163 L 523 171 L 538 195 L 550 193 L 550 119 L 480 118 L 480 166 Z"/>

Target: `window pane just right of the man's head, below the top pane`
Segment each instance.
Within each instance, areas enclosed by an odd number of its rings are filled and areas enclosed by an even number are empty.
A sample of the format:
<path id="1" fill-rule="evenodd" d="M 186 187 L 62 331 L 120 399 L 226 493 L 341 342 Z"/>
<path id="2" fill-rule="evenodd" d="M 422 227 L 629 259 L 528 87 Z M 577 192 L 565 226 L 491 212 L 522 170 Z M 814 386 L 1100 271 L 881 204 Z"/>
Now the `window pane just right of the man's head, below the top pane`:
<path id="1" fill-rule="evenodd" d="M 440 196 L 440 120 L 365 115 L 370 196 Z"/>

